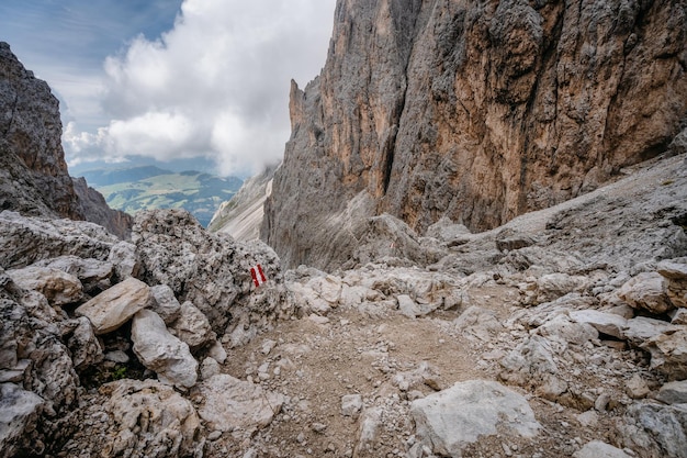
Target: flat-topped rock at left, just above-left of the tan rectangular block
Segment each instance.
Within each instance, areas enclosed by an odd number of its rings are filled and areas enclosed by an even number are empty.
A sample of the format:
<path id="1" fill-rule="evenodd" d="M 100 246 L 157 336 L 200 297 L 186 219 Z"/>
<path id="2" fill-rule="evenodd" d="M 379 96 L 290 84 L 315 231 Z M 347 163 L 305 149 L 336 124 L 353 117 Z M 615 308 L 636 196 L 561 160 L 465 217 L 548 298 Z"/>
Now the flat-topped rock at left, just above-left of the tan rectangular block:
<path id="1" fill-rule="evenodd" d="M 37 291 L 45 295 L 53 305 L 67 305 L 78 302 L 82 293 L 82 284 L 78 278 L 49 267 L 24 267 L 8 270 L 14 283 L 25 290 Z"/>

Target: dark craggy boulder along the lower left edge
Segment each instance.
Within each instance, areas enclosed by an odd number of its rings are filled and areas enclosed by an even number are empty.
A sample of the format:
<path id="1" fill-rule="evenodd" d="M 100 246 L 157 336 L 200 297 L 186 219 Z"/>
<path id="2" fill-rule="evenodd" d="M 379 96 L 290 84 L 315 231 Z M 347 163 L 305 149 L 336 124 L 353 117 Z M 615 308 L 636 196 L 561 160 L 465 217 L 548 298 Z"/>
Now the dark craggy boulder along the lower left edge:
<path id="1" fill-rule="evenodd" d="M 43 294 L 20 289 L 1 268 L 0 316 L 0 456 L 40 456 L 42 432 L 77 399 L 79 378 L 64 339 L 78 323 Z"/>

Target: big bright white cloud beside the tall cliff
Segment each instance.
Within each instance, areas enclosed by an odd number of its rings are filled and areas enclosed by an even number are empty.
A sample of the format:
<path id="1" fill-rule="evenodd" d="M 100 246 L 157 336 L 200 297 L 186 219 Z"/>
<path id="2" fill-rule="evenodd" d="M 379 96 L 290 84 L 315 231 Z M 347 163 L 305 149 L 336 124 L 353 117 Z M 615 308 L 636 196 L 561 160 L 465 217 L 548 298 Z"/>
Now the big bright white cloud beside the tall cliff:
<path id="1" fill-rule="evenodd" d="M 290 80 L 303 86 L 324 66 L 334 3 L 185 0 L 172 30 L 106 58 L 112 121 L 95 132 L 69 123 L 68 159 L 203 156 L 229 174 L 281 157 Z"/>

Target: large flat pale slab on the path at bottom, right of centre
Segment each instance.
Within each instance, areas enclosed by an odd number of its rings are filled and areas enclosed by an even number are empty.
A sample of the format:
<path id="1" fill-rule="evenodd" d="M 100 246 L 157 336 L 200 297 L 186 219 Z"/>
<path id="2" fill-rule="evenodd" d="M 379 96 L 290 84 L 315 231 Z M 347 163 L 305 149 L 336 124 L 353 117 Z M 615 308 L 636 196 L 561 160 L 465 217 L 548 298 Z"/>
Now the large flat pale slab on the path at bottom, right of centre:
<path id="1" fill-rule="evenodd" d="M 541 425 L 527 400 L 495 381 L 470 380 L 413 401 L 417 435 L 433 454 L 461 457 L 483 436 L 534 437 Z"/>

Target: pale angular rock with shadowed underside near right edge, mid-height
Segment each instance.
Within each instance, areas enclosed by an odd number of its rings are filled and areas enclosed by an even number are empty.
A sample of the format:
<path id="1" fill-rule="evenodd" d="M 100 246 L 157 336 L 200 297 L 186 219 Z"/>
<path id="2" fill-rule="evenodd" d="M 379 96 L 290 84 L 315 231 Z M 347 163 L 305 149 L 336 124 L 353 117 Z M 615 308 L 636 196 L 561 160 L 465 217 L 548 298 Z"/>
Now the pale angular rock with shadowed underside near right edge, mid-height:
<path id="1" fill-rule="evenodd" d="M 673 308 L 667 295 L 667 282 L 658 272 L 638 275 L 618 290 L 618 295 L 634 309 L 655 314 L 665 313 Z"/>

